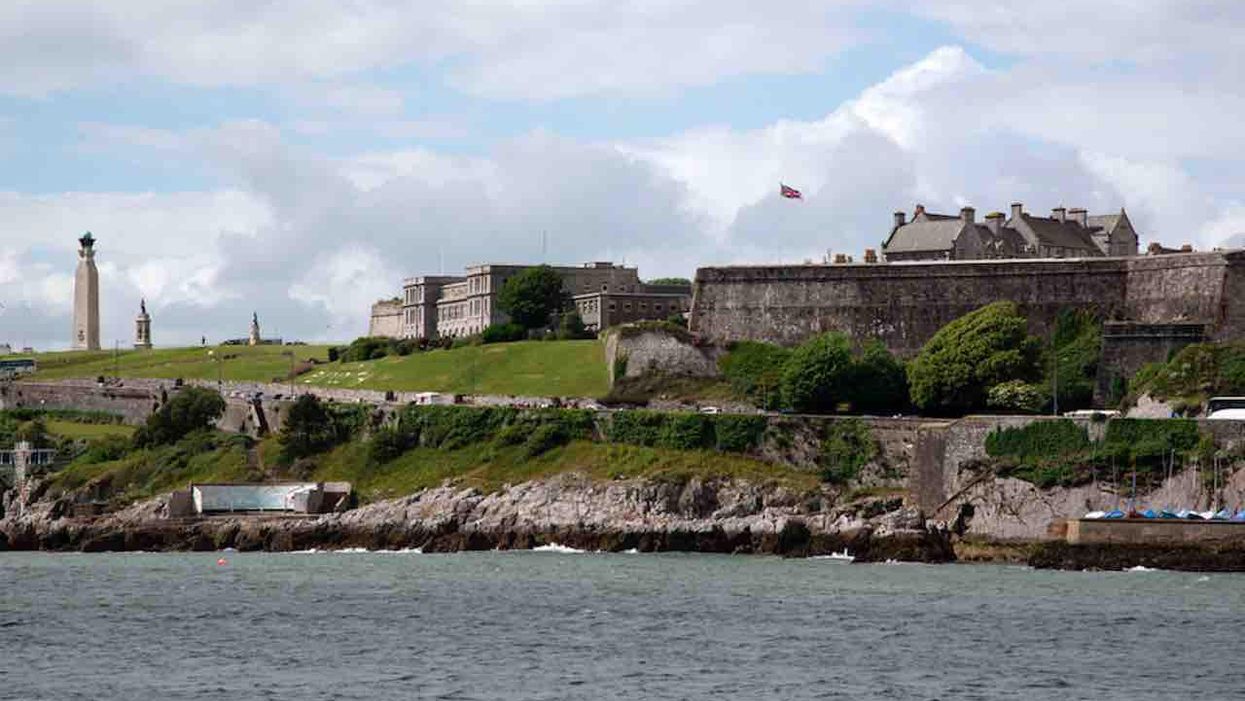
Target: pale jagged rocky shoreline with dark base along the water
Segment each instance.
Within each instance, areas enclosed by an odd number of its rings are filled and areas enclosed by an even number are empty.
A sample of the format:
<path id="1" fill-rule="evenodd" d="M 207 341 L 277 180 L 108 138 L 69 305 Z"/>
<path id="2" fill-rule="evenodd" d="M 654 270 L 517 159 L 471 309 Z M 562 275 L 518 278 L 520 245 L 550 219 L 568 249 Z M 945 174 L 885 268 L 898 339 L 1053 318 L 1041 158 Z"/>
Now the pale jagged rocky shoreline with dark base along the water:
<path id="1" fill-rule="evenodd" d="M 37 491 L 36 491 L 37 492 Z M 426 553 L 558 544 L 600 552 L 756 553 L 784 557 L 847 550 L 858 562 L 944 563 L 951 535 L 900 503 L 834 508 L 832 499 L 742 481 L 614 481 L 574 474 L 486 494 L 439 487 L 344 513 L 308 518 L 173 520 L 152 499 L 93 518 L 71 518 L 66 497 L 14 501 L 0 519 L 10 550 L 405 549 Z M 894 507 L 886 510 L 888 507 Z"/>

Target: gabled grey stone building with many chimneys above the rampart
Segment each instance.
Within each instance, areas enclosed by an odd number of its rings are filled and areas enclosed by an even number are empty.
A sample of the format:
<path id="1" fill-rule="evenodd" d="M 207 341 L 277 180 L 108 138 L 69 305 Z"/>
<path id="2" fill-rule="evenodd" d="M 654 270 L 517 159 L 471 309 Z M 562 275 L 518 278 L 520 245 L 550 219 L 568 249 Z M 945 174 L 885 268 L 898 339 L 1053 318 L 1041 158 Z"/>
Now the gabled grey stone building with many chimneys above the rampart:
<path id="1" fill-rule="evenodd" d="M 914 260 L 1001 260 L 1010 258 L 1102 258 L 1137 255 L 1138 235 L 1128 214 L 1091 217 L 1081 208 L 1057 207 L 1035 217 L 1023 204 L 1011 217 L 992 212 L 977 222 L 971 207 L 959 215 L 935 214 L 918 204 L 911 220 L 895 212 L 881 244 L 888 263 Z"/>

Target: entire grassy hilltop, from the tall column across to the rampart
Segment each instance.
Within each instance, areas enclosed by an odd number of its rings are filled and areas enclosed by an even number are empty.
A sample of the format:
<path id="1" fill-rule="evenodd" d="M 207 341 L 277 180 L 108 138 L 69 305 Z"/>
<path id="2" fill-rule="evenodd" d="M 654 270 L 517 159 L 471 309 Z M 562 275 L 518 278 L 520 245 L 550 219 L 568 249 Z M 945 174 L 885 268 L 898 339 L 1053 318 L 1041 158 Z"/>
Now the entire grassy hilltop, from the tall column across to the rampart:
<path id="1" fill-rule="evenodd" d="M 209 355 L 210 352 L 210 355 Z M 290 352 L 293 356 L 283 355 Z M 36 354 L 36 380 L 157 377 L 269 382 L 285 377 L 290 361 L 326 362 L 329 346 L 215 346 Z M 520 396 L 601 396 L 608 387 L 599 341 L 520 341 L 435 350 L 366 362 L 320 365 L 303 385 L 357 390 L 432 391 Z"/>

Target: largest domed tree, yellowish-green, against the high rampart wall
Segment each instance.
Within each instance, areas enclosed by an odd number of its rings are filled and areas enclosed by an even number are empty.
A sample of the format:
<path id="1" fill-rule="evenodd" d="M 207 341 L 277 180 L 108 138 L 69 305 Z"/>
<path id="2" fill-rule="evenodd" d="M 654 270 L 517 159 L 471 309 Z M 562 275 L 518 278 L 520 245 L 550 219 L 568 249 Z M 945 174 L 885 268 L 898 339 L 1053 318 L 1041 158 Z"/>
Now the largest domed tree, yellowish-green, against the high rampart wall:
<path id="1" fill-rule="evenodd" d="M 1010 301 L 970 311 L 939 329 L 908 366 L 913 403 L 931 413 L 986 406 L 991 387 L 1037 381 L 1042 346 Z"/>

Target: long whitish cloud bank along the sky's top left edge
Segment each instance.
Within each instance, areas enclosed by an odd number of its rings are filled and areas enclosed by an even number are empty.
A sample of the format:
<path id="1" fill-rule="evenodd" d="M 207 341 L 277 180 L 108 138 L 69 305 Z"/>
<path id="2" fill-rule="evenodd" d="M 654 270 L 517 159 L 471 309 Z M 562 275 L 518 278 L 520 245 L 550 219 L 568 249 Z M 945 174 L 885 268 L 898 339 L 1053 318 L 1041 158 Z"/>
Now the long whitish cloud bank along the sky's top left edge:
<path id="1" fill-rule="evenodd" d="M 854 41 L 845 20 L 855 4 L 792 0 L 776 11 L 751 0 L 305 0 L 291 11 L 249 0 L 15 0 L 0 5 L 0 91 L 39 96 L 134 75 L 290 83 L 420 64 L 447 66 L 456 85 L 488 97 L 651 95 L 815 71 Z M 351 90 L 325 98 L 359 106 Z M 385 95 L 362 101 L 392 107 Z"/>

